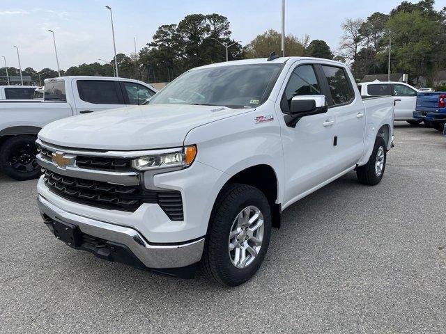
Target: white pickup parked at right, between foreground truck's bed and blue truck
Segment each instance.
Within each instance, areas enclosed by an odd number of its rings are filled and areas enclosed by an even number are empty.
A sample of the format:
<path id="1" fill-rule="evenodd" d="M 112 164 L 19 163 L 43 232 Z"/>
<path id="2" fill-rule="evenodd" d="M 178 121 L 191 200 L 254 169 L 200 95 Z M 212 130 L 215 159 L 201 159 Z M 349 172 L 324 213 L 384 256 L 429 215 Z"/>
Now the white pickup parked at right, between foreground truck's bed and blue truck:
<path id="1" fill-rule="evenodd" d="M 406 120 L 410 125 L 417 125 L 422 120 L 413 118 L 419 90 L 404 82 L 373 81 L 357 84 L 362 96 L 391 95 L 395 103 L 395 120 Z"/>

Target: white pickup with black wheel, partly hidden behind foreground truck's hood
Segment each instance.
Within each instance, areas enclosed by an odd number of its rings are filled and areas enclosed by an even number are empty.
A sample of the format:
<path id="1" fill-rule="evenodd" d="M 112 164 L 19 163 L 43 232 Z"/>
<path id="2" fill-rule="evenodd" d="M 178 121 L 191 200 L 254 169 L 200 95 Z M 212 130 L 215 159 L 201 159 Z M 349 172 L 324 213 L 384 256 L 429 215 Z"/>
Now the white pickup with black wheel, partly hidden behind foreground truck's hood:
<path id="1" fill-rule="evenodd" d="M 79 113 L 139 104 L 155 92 L 132 79 L 59 77 L 45 79 L 44 100 L 0 100 L 0 171 L 15 180 L 38 177 L 34 142 L 44 125 Z"/>

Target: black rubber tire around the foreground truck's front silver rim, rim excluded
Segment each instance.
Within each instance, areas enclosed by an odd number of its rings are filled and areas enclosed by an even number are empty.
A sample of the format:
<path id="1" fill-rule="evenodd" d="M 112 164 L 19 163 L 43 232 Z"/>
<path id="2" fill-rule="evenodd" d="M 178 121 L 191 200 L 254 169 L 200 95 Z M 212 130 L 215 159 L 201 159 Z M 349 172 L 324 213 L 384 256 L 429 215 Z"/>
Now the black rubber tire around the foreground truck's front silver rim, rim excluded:
<path id="1" fill-rule="evenodd" d="M 263 214 L 263 240 L 254 260 L 247 267 L 239 269 L 231 260 L 229 233 L 238 214 L 249 206 L 259 208 Z M 259 189 L 246 184 L 225 186 L 215 201 L 210 216 L 208 235 L 200 263 L 201 271 L 210 280 L 222 285 L 234 287 L 245 283 L 259 270 L 270 244 L 270 235 L 271 212 L 266 196 Z"/>

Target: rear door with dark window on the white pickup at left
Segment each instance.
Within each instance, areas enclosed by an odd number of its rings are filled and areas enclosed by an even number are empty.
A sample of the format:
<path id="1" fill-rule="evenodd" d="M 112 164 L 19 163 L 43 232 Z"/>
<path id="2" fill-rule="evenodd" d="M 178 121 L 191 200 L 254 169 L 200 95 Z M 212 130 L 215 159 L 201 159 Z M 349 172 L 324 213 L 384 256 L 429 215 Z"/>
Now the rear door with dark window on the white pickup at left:
<path id="1" fill-rule="evenodd" d="M 77 113 L 116 109 L 125 105 L 119 81 L 78 79 L 72 82 Z"/>

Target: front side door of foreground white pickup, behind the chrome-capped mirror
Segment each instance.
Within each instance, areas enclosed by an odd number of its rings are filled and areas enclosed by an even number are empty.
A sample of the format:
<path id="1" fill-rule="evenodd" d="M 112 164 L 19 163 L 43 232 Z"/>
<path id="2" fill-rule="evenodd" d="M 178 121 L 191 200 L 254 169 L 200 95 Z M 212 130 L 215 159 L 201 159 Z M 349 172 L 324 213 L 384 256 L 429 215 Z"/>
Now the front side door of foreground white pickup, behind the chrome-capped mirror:
<path id="1" fill-rule="evenodd" d="M 303 64 L 293 69 L 291 77 L 277 103 L 277 115 L 289 112 L 291 99 L 297 95 L 323 95 L 314 65 Z M 284 148 L 285 194 L 284 203 L 293 202 L 318 184 L 332 177 L 334 161 L 334 115 L 332 110 L 300 118 L 295 127 L 282 123 Z"/>

